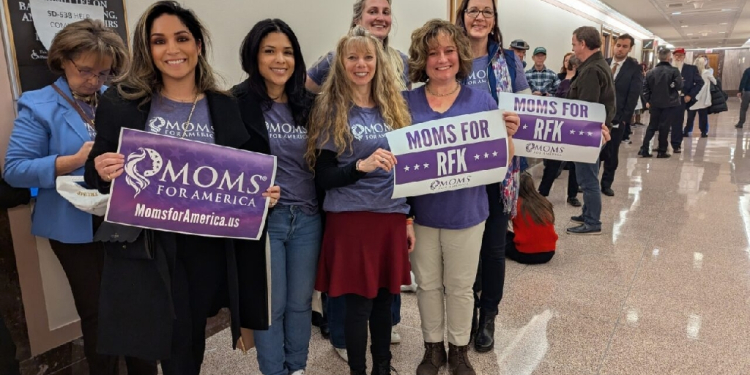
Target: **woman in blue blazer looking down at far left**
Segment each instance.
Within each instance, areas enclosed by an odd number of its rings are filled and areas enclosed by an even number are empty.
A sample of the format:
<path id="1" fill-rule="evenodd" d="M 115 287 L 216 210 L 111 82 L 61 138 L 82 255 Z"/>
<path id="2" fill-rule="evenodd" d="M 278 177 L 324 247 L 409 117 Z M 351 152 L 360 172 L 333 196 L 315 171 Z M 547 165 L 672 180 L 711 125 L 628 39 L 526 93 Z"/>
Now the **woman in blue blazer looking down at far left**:
<path id="1" fill-rule="evenodd" d="M 96 135 L 94 114 L 104 82 L 128 65 L 128 51 L 101 21 L 84 20 L 60 31 L 48 65 L 60 78 L 18 101 L 5 157 L 5 180 L 14 187 L 39 188 L 31 232 L 48 238 L 70 283 L 81 317 L 84 353 L 92 374 L 116 374 L 118 358 L 99 355 L 97 322 L 104 262 L 101 242 L 93 242 L 101 218 L 76 209 L 55 189 L 58 176 L 82 176 Z M 129 374 L 156 374 L 156 363 L 127 359 Z"/>

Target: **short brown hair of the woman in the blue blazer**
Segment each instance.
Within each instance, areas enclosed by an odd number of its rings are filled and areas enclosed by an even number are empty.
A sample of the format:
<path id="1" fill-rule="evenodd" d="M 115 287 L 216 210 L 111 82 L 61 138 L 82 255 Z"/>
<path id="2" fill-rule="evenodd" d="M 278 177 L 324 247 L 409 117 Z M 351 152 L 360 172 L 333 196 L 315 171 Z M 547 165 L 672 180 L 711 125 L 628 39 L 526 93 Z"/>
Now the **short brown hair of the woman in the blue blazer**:
<path id="1" fill-rule="evenodd" d="M 99 58 L 112 58 L 111 72 L 115 76 L 125 73 L 130 62 L 128 49 L 114 30 L 100 20 L 85 19 L 65 26 L 55 35 L 47 54 L 47 66 L 53 73 L 63 75 L 65 60 L 72 61 L 89 52 Z"/>

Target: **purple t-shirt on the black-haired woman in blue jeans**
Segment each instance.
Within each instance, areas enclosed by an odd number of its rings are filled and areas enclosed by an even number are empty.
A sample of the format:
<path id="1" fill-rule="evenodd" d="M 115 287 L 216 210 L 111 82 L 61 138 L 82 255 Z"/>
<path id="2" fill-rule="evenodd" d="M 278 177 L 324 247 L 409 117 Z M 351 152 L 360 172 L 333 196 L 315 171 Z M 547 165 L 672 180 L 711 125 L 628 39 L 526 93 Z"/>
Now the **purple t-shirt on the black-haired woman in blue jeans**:
<path id="1" fill-rule="evenodd" d="M 282 192 L 279 204 L 299 206 L 304 213 L 315 214 L 315 176 L 305 161 L 307 129 L 295 124 L 292 110 L 285 103 L 273 103 L 263 116 L 271 154 L 276 155 L 276 184 Z"/>

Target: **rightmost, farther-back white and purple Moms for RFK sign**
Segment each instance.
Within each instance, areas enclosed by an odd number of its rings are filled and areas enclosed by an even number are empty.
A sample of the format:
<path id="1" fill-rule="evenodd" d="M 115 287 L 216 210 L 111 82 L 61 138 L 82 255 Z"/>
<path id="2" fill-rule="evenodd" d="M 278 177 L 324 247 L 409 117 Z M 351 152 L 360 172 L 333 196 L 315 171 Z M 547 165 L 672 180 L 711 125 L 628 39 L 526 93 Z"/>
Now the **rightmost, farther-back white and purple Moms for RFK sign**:
<path id="1" fill-rule="evenodd" d="M 521 126 L 516 155 L 595 163 L 602 146 L 604 105 L 543 96 L 500 94 L 499 108 L 514 111 Z"/>

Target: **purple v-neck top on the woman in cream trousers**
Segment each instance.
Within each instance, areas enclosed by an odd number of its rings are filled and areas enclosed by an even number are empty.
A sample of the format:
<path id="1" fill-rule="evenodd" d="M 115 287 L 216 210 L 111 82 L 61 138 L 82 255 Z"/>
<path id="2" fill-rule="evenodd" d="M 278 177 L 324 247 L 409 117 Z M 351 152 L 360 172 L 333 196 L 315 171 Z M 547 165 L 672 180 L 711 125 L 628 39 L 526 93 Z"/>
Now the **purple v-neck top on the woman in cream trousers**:
<path id="1" fill-rule="evenodd" d="M 411 109 L 414 124 L 497 109 L 497 103 L 490 94 L 466 86 L 461 87 L 456 101 L 445 113 L 432 110 L 424 86 L 404 91 L 404 97 Z M 470 228 L 487 220 L 490 215 L 484 186 L 421 195 L 414 197 L 412 204 L 417 224 L 431 228 Z"/>

